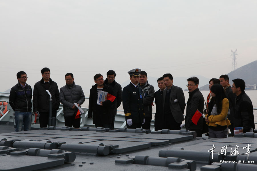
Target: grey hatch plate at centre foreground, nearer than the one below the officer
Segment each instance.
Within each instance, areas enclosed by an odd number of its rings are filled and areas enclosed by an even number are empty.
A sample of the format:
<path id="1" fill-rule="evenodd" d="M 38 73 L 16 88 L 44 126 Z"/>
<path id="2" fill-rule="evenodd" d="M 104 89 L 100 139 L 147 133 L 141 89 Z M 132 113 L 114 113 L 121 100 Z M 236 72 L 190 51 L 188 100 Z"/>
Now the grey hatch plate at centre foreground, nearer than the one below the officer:
<path id="1" fill-rule="evenodd" d="M 119 148 L 115 148 L 115 153 L 124 153 L 131 152 L 135 150 L 141 150 L 144 148 L 149 148 L 151 143 L 140 143 L 140 142 L 131 142 L 131 141 L 97 141 L 87 144 L 98 145 L 99 143 L 103 143 L 104 145 L 119 145 Z"/>

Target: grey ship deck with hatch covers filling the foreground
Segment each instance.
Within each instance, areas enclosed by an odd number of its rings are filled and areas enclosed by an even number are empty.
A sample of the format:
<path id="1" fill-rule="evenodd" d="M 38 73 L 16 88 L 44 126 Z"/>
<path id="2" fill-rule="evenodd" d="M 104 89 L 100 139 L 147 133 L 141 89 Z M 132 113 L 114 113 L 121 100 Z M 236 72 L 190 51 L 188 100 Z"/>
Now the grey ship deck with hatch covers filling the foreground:
<path id="1" fill-rule="evenodd" d="M 2 163 L 0 170 L 257 170 L 257 165 L 255 165 L 257 163 L 255 133 L 241 135 L 241 137 L 217 139 L 193 138 L 194 134 L 191 135 L 190 132 L 181 133 L 183 135 L 167 134 L 167 130 L 152 133 L 144 130 L 137 131 L 137 133 L 131 132 L 133 130 L 121 132 L 126 129 L 122 129 L 120 132 L 105 132 L 109 131 L 106 129 L 98 131 L 41 129 L 21 132 L 14 132 L 14 130 L 13 125 L 0 125 L 0 144 L 13 146 L 13 148 L 9 148 L 9 151 L 0 150 Z M 18 145 L 13 143 L 17 140 L 21 142 Z M 33 142 L 28 140 L 33 140 Z M 55 146 L 58 149 L 60 147 L 60 149 L 64 149 L 62 145 L 64 142 L 67 145 L 75 146 L 76 149 L 68 146 L 65 149 L 75 152 L 76 159 L 72 162 L 64 162 L 61 155 L 31 156 L 28 150 L 25 150 L 24 153 L 24 149 L 32 147 L 53 149 L 46 148 L 47 145 L 34 145 L 34 142 L 48 143 L 51 146 L 59 142 Z M 213 147 L 213 144 L 216 148 L 212 160 L 212 153 L 208 150 Z M 247 155 L 245 153 L 247 150 L 243 147 L 248 144 L 251 144 L 249 161 L 254 161 L 254 163 L 242 164 L 242 161 L 234 164 L 220 163 L 220 160 L 246 161 Z M 221 152 L 221 147 L 225 145 L 228 146 L 226 155 L 218 155 L 217 153 Z M 96 146 L 108 148 L 108 154 L 106 151 L 101 152 L 100 148 L 94 151 Z M 235 150 L 236 146 L 238 146 L 239 155 L 231 156 L 230 151 Z M 88 151 L 87 148 L 89 148 Z M 178 157 L 181 160 L 176 159 L 177 162 L 173 161 L 169 164 L 168 160 L 171 159 L 167 157 Z"/>

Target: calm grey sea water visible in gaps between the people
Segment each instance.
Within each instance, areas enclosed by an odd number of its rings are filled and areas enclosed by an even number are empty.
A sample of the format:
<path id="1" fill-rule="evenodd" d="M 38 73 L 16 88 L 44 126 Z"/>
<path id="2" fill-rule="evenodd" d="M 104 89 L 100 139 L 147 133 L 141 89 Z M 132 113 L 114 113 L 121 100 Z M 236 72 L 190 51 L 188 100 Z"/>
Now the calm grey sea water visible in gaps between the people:
<path id="1" fill-rule="evenodd" d="M 187 99 L 189 98 L 189 94 L 188 94 L 188 91 L 183 91 L 184 92 L 184 95 L 185 95 L 185 99 L 186 99 L 186 102 L 187 102 Z M 209 94 L 210 91 L 201 91 L 202 92 L 202 95 L 204 96 L 204 99 L 206 100 L 207 99 L 207 95 Z M 257 108 L 257 90 L 249 90 L 249 91 L 245 91 L 246 94 L 250 97 L 250 99 L 252 100 L 252 105 L 254 108 Z M 88 94 L 85 94 L 86 97 L 89 97 L 89 93 Z M 89 100 L 86 99 L 85 103 L 82 105 L 83 107 L 88 107 L 88 103 L 89 103 Z M 118 108 L 118 110 L 122 110 L 123 111 L 123 106 L 122 106 L 122 103 L 121 103 L 121 106 Z M 155 104 L 153 106 L 153 113 L 155 113 Z M 118 111 L 117 113 L 122 113 L 124 114 L 124 112 L 121 112 L 121 111 Z M 185 113 L 184 115 L 186 114 L 186 110 L 185 110 Z M 152 116 L 152 119 L 154 119 L 154 114 Z M 257 110 L 254 110 L 254 121 L 257 122 Z"/>

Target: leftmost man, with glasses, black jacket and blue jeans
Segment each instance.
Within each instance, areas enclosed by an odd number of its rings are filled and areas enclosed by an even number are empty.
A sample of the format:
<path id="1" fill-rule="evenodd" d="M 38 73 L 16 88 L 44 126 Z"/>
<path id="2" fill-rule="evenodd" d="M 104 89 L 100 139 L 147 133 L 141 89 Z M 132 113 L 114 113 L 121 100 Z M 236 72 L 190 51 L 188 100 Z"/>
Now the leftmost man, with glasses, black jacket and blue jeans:
<path id="1" fill-rule="evenodd" d="M 31 86 L 26 84 L 27 74 L 24 71 L 17 73 L 18 84 L 13 86 L 10 91 L 9 104 L 15 111 L 15 131 L 21 131 L 22 124 L 24 131 L 30 130 L 31 125 Z"/>

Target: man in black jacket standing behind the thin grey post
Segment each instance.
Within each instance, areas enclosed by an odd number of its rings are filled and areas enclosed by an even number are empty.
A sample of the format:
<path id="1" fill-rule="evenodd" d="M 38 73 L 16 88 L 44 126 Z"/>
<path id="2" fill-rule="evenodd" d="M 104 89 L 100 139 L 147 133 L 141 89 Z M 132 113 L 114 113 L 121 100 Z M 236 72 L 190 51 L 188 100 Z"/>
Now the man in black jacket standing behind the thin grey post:
<path id="1" fill-rule="evenodd" d="M 43 68 L 41 70 L 42 79 L 37 82 L 34 86 L 33 90 L 33 111 L 36 114 L 39 113 L 39 123 L 40 127 L 44 128 L 48 125 L 48 118 L 49 118 L 49 99 L 50 96 L 46 92 L 46 90 L 49 90 L 49 92 L 52 95 L 52 117 L 56 117 L 57 109 L 59 109 L 60 106 L 60 99 L 59 99 L 59 89 L 56 84 L 51 78 L 50 78 L 50 69 L 49 68 Z"/>

